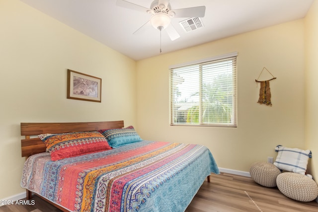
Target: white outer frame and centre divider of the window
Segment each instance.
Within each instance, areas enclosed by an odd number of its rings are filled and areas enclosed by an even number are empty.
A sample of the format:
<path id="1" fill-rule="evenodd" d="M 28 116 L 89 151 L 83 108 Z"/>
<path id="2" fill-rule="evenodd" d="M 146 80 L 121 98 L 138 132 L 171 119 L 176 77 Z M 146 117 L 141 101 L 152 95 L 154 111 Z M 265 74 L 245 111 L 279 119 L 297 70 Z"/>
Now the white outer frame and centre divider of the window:
<path id="1" fill-rule="evenodd" d="M 177 64 L 177 65 L 172 65 L 169 67 L 169 124 L 170 126 L 194 126 L 194 127 L 226 127 L 226 128 L 237 128 L 238 126 L 238 121 L 237 121 L 237 56 L 238 56 L 238 52 L 233 52 L 233 53 L 229 53 L 229 54 L 224 54 L 224 55 L 220 55 L 220 56 L 215 56 L 215 57 L 211 57 L 211 58 L 206 58 L 206 59 L 202 59 L 202 60 L 197 60 L 197 61 L 191 61 L 191 62 L 186 62 L 183 64 Z M 233 68 L 234 71 L 234 82 L 233 82 L 233 88 L 234 88 L 234 93 L 233 93 L 233 111 L 232 111 L 232 116 L 231 118 L 233 119 L 231 121 L 231 123 L 204 123 L 202 121 L 202 93 L 201 93 L 201 89 L 200 90 L 200 95 L 199 95 L 199 110 L 200 112 L 200 116 L 199 116 L 199 123 L 195 124 L 195 123 L 174 123 L 174 113 L 173 113 L 173 107 L 174 107 L 174 102 L 172 101 L 173 98 L 173 94 L 172 94 L 172 82 L 171 82 L 171 78 L 172 78 L 172 71 L 178 68 L 183 68 L 183 67 L 190 67 L 193 65 L 204 65 L 206 63 L 213 63 L 213 62 L 217 62 L 219 60 L 224 60 L 224 59 L 230 59 L 230 58 L 235 58 L 233 60 L 235 60 L 235 67 Z M 200 77 L 199 77 L 200 78 Z M 199 83 L 200 83 L 200 87 L 203 86 L 202 83 L 202 79 L 199 79 Z"/>

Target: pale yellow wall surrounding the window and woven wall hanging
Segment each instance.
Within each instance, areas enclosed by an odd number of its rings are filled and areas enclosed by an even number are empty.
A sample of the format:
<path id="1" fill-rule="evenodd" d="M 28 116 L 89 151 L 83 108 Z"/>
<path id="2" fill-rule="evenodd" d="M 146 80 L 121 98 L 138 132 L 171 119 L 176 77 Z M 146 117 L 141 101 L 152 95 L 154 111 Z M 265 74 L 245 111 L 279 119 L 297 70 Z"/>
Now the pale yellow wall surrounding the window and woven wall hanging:
<path id="1" fill-rule="evenodd" d="M 239 54 L 238 128 L 169 126 L 168 67 L 231 52 Z M 270 81 L 272 107 L 256 103 L 263 67 L 277 77 Z M 202 143 L 219 167 L 248 172 L 257 160 L 275 159 L 278 144 L 305 147 L 304 68 L 303 19 L 138 61 L 139 133 L 147 140 Z"/>

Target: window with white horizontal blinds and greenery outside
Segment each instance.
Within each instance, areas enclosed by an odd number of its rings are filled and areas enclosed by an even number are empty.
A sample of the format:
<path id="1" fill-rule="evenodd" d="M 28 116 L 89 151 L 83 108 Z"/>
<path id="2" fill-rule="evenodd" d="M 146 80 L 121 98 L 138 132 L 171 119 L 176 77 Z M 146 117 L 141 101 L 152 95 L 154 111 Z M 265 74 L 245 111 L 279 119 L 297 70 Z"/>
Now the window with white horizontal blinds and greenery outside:
<path id="1" fill-rule="evenodd" d="M 170 124 L 236 127 L 238 53 L 170 67 Z"/>

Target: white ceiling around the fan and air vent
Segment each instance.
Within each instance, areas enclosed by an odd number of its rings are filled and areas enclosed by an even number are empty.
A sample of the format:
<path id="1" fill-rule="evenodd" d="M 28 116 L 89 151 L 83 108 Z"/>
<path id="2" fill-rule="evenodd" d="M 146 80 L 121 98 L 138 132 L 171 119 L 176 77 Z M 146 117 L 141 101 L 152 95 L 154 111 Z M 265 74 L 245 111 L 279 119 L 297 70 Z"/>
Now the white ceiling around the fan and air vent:
<path id="1" fill-rule="evenodd" d="M 116 6 L 116 0 L 21 0 L 108 47 L 134 59 L 159 55 L 160 32 L 152 26 L 133 33 L 150 14 Z M 149 8 L 153 0 L 127 0 Z M 314 0 L 170 0 L 171 9 L 206 6 L 203 28 L 184 32 L 171 41 L 162 31 L 162 53 L 305 17 Z"/>

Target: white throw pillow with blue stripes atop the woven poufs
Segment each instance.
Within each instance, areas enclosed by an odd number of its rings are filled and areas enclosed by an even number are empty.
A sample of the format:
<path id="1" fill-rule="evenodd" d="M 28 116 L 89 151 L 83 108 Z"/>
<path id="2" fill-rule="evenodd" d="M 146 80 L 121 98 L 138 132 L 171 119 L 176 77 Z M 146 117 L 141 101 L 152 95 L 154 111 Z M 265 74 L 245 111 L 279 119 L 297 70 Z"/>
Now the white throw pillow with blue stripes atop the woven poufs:
<path id="1" fill-rule="evenodd" d="M 306 173 L 308 158 L 312 157 L 311 150 L 288 148 L 278 145 L 275 151 L 278 151 L 276 161 L 274 162 L 277 168 L 299 174 Z"/>

